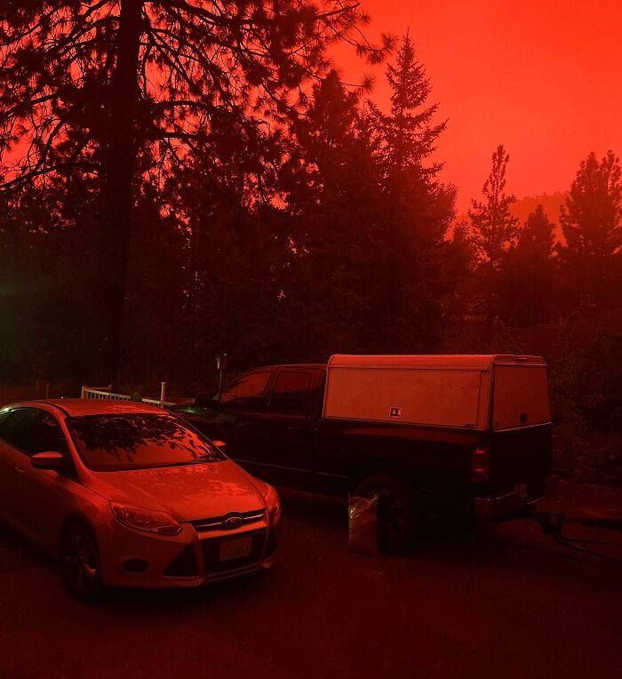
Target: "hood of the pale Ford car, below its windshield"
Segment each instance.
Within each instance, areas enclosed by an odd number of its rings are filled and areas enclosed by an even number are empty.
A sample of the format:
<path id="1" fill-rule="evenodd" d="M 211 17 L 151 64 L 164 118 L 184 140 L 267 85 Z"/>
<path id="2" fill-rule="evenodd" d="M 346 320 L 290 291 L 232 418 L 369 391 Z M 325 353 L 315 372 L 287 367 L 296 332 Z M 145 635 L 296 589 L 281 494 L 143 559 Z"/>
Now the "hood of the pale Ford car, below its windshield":
<path id="1" fill-rule="evenodd" d="M 101 496 L 178 521 L 264 509 L 267 486 L 230 459 L 221 462 L 118 472 L 91 472 L 88 487 Z"/>

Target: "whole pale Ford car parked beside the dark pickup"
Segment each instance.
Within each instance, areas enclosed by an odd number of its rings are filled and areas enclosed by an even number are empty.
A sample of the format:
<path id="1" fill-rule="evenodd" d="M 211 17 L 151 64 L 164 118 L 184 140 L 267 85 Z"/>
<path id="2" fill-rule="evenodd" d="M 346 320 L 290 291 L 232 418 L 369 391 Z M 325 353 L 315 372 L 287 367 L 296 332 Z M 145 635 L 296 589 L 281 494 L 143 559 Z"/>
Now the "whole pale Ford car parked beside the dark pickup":
<path id="1" fill-rule="evenodd" d="M 81 399 L 0 410 L 0 519 L 57 555 L 81 600 L 267 568 L 281 533 L 275 489 L 182 419 Z"/>

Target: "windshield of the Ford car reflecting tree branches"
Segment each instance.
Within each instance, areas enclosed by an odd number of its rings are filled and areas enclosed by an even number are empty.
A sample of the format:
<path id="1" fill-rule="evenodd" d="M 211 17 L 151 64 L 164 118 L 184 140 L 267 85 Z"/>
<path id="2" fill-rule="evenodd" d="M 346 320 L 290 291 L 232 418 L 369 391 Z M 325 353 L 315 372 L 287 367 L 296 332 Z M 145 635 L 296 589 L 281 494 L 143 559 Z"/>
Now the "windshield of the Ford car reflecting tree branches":
<path id="1" fill-rule="evenodd" d="M 227 459 L 195 429 L 166 415 L 86 415 L 68 427 L 76 450 L 93 471 L 220 462 Z"/>

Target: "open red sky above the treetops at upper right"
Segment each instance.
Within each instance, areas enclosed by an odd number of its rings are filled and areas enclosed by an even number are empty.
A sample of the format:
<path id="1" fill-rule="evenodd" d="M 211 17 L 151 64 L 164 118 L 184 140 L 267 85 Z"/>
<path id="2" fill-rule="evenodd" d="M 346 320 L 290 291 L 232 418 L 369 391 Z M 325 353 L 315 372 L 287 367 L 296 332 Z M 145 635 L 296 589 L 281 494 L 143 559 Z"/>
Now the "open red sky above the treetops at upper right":
<path id="1" fill-rule="evenodd" d="M 449 118 L 439 139 L 443 180 L 459 211 L 479 197 L 499 143 L 510 154 L 507 190 L 519 198 L 565 191 L 590 151 L 622 155 L 620 0 L 362 0 L 365 31 L 410 35 Z M 371 98 L 387 105 L 385 67 L 339 49 L 347 81 L 376 76 Z"/>

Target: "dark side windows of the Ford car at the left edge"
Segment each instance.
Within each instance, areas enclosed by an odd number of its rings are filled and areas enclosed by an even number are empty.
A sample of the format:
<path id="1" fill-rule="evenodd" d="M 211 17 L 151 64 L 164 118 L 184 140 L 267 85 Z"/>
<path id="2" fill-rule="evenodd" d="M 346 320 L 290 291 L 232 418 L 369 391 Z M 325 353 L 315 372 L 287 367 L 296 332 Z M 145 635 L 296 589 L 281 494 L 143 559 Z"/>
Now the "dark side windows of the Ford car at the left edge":
<path id="1" fill-rule="evenodd" d="M 27 455 L 67 451 L 67 440 L 56 419 L 32 408 L 11 411 L 0 422 L 0 437 Z"/>

